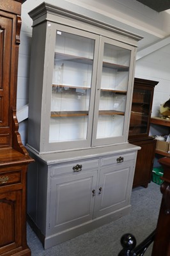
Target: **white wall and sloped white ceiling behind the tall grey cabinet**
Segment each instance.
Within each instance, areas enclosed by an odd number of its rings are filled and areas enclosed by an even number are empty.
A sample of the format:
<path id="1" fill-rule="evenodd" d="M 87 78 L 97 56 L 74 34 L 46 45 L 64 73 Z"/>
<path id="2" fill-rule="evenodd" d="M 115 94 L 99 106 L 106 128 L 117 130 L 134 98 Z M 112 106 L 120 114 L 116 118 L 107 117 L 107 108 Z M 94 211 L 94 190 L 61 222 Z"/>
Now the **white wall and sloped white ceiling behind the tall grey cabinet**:
<path id="1" fill-rule="evenodd" d="M 29 60 L 31 51 L 32 20 L 27 14 L 42 3 L 42 0 L 27 0 L 22 4 L 22 29 L 20 33 L 17 110 L 29 103 Z M 50 4 L 79 12 L 79 6 L 114 20 L 115 26 L 144 37 L 139 49 L 157 42 L 170 33 L 169 12 L 157 13 L 135 0 L 48 0 Z M 73 4 L 72 4 L 73 3 Z M 77 5 L 74 5 L 77 4 Z M 151 52 L 136 61 L 135 77 L 159 81 L 153 98 L 152 116 L 158 115 L 160 104 L 170 95 L 170 44 Z M 26 110 L 26 108 L 24 107 Z M 18 112 L 19 113 L 19 112 Z M 27 141 L 27 121 L 20 122 L 22 142 Z"/>

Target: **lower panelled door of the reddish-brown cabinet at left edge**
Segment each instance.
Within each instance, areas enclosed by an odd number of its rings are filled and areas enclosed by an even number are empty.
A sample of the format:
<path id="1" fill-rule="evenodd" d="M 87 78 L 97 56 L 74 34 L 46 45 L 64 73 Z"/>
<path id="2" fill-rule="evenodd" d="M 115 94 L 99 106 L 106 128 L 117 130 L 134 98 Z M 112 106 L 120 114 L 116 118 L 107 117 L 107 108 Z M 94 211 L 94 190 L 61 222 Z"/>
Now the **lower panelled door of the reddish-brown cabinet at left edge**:
<path id="1" fill-rule="evenodd" d="M 22 191 L 0 193 L 0 254 L 21 246 L 21 205 Z"/>

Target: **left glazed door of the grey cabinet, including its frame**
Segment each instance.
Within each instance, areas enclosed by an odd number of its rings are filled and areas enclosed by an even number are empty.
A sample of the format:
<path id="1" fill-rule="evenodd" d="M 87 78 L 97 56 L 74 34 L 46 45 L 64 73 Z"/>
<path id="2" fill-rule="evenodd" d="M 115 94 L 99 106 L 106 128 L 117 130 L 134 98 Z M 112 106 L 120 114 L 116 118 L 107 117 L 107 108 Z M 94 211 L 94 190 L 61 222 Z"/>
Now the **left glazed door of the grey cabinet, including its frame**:
<path id="1" fill-rule="evenodd" d="M 50 86 L 50 149 L 91 145 L 98 36 L 55 26 Z M 56 147 L 54 147 L 56 150 Z"/>

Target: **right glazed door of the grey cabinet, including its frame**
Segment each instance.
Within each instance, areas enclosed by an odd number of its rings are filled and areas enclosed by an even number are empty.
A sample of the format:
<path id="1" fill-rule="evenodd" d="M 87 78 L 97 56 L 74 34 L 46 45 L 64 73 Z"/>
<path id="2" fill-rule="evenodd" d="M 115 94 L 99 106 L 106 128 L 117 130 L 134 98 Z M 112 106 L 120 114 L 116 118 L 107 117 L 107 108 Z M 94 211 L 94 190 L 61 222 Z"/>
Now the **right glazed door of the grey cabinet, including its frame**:
<path id="1" fill-rule="evenodd" d="M 134 49 L 109 38 L 100 44 L 93 145 L 125 142 Z"/>

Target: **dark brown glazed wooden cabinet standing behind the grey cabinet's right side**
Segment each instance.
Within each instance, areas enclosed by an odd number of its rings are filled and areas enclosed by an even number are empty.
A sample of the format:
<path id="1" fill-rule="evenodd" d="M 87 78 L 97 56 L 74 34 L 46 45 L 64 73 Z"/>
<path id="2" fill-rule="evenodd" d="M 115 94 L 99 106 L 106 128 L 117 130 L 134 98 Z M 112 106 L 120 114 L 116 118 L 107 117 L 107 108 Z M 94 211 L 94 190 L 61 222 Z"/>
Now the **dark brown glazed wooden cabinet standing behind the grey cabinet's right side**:
<path id="1" fill-rule="evenodd" d="M 141 147 L 137 154 L 133 187 L 147 188 L 151 181 L 156 141 L 149 135 L 153 92 L 157 81 L 134 79 L 128 140 Z"/>

